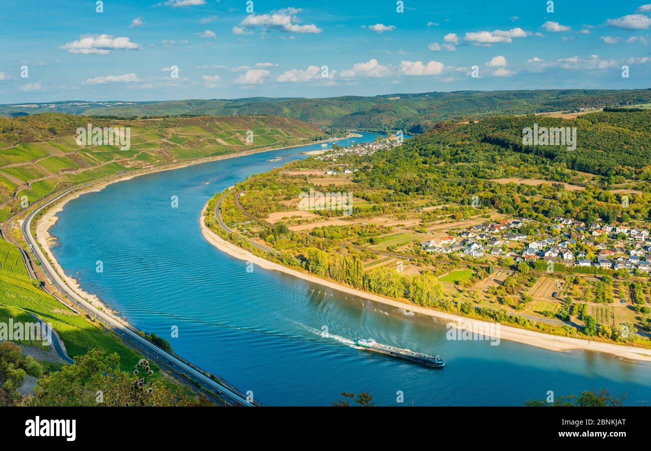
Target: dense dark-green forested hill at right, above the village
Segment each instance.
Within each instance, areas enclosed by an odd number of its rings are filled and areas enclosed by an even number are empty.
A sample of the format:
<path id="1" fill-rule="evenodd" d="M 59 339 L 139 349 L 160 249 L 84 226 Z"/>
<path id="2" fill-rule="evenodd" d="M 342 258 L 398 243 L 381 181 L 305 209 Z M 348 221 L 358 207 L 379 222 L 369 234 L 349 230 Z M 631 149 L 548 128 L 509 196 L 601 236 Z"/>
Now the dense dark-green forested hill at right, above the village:
<path id="1" fill-rule="evenodd" d="M 523 129 L 533 128 L 534 124 L 576 127 L 576 149 L 523 145 Z M 644 166 L 651 166 L 651 110 L 594 112 L 572 120 L 529 115 L 497 116 L 467 124 L 441 122 L 412 141 L 411 146 L 420 155 L 434 156 L 441 161 L 476 162 L 492 155 L 508 159 L 512 151 L 531 155 L 541 164 L 553 163 L 557 167 L 598 175 L 623 175 L 629 179 Z"/>

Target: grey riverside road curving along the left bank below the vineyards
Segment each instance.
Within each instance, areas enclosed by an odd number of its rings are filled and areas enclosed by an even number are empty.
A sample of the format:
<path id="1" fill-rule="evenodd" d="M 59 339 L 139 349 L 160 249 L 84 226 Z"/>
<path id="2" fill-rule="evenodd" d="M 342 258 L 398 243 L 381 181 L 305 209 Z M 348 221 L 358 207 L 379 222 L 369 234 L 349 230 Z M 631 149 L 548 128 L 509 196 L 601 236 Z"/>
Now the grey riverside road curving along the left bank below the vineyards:
<path id="1" fill-rule="evenodd" d="M 147 341 L 145 338 L 138 335 L 138 333 L 135 330 L 129 328 L 128 326 L 125 326 L 124 324 L 122 324 L 122 322 L 118 321 L 116 318 L 113 318 L 113 316 L 108 315 L 107 313 L 104 313 L 102 311 L 99 311 L 98 309 L 96 309 L 96 307 L 90 305 L 90 303 L 88 303 L 83 298 L 81 298 L 81 296 L 79 296 L 73 289 L 68 287 L 66 282 L 62 279 L 62 277 L 59 276 L 57 271 L 49 263 L 48 258 L 43 254 L 42 250 L 36 243 L 36 240 L 33 237 L 31 232 L 31 223 L 32 220 L 35 218 L 35 216 L 42 209 L 48 207 L 52 203 L 61 200 L 61 198 L 63 198 L 70 192 L 77 190 L 79 188 L 83 188 L 83 187 L 70 188 L 69 190 L 66 190 L 61 194 L 59 194 L 58 196 L 52 198 L 51 200 L 44 202 L 42 205 L 36 207 L 33 211 L 31 211 L 31 213 L 29 213 L 27 218 L 25 218 L 25 220 L 23 221 L 23 224 L 21 224 L 21 233 L 23 234 L 25 241 L 29 245 L 32 255 L 34 255 L 35 259 L 38 261 L 38 263 L 40 263 L 40 268 L 44 272 L 45 276 L 48 278 L 51 285 L 55 287 L 55 289 L 59 290 L 61 294 L 66 296 L 69 302 L 74 303 L 77 309 L 87 313 L 87 315 L 89 315 L 90 318 L 98 318 L 109 328 L 111 328 L 115 333 L 117 333 L 120 337 L 122 337 L 130 344 L 132 344 L 132 347 L 136 348 L 137 350 L 140 350 L 146 357 L 156 361 L 159 367 L 167 368 L 168 370 L 171 370 L 171 372 L 176 373 L 178 376 L 181 376 L 181 378 L 185 376 L 186 378 L 189 378 L 193 383 L 199 385 L 199 387 L 204 387 L 205 389 L 208 389 L 208 391 L 214 391 L 215 393 L 217 393 L 219 397 L 211 396 L 209 393 L 204 393 L 211 400 L 217 402 L 217 404 L 231 404 L 231 405 L 246 406 L 246 407 L 254 406 L 254 403 L 248 402 L 246 397 L 243 394 L 238 393 L 234 388 L 225 387 L 221 383 L 217 383 L 217 381 L 212 380 L 211 378 L 209 378 L 199 370 L 190 367 L 184 361 L 178 359 L 177 357 L 174 357 L 174 355 L 171 355 L 161 350 L 160 348 L 158 348 L 158 346 Z M 23 255 L 23 259 L 26 259 L 25 255 Z M 34 272 L 31 269 L 31 265 L 27 261 L 26 263 L 27 263 L 27 268 L 30 272 L 30 276 L 32 276 Z M 260 405 L 260 404 L 255 403 L 255 405 Z"/>

